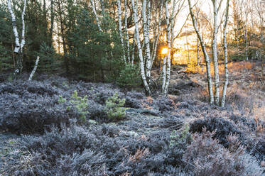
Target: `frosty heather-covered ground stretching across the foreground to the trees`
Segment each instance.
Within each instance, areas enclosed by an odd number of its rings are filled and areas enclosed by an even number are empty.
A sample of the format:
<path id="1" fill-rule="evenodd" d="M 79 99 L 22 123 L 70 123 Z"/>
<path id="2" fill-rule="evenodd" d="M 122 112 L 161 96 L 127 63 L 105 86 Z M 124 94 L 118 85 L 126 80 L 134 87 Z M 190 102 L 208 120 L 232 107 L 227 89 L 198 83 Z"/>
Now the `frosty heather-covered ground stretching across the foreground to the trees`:
<path id="1" fill-rule="evenodd" d="M 183 66 L 173 66 L 168 97 L 60 77 L 2 82 L 0 175 L 263 176 L 261 69 L 247 62 L 229 68 L 226 108 L 207 104 L 205 70 L 190 73 Z M 87 95 L 92 121 L 67 110 L 75 90 Z M 105 101 L 114 92 L 126 100 L 125 119 L 107 118 Z M 58 103 L 60 97 L 66 102 Z"/>

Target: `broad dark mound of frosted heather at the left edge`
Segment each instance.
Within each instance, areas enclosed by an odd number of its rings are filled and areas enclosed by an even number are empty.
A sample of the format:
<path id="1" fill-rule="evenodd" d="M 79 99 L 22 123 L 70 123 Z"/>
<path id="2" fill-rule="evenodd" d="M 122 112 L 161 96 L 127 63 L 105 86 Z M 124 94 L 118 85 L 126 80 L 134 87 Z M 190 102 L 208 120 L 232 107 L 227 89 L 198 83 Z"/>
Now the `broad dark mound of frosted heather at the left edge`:
<path id="1" fill-rule="evenodd" d="M 58 97 L 1 94 L 0 104 L 0 128 L 14 133 L 43 133 L 53 123 L 60 126 L 78 117 L 74 109 L 58 104 Z"/>

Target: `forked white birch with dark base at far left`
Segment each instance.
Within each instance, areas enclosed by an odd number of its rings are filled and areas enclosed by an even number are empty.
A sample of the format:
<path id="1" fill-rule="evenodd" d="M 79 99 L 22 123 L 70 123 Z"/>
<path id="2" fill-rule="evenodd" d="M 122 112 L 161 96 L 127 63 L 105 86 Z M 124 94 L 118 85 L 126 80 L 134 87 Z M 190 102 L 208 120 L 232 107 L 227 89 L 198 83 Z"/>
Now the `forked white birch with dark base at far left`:
<path id="1" fill-rule="evenodd" d="M 21 42 L 19 42 L 18 30 L 16 27 L 16 16 L 13 13 L 13 9 L 11 6 L 11 0 L 8 0 L 8 9 L 9 13 L 11 14 L 11 20 L 13 25 L 13 35 L 15 36 L 15 48 L 13 53 L 16 55 L 16 63 L 15 63 L 15 75 L 19 75 L 23 69 L 23 47 L 25 45 L 25 11 L 26 11 L 26 0 L 23 2 L 23 11 L 21 13 L 21 21 L 22 21 L 22 31 L 21 31 Z"/>

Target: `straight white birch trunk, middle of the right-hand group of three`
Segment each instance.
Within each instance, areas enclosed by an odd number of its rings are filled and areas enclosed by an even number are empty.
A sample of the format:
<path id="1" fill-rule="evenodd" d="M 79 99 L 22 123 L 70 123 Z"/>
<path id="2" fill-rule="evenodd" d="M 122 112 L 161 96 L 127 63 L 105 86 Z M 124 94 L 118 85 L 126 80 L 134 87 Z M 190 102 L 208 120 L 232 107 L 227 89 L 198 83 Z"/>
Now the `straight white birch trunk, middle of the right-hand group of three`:
<path id="1" fill-rule="evenodd" d="M 218 8 L 217 8 L 217 0 L 212 0 L 213 4 L 213 18 L 214 18 L 214 26 L 213 26 L 213 35 L 212 35 L 212 60 L 213 67 L 215 72 L 215 105 L 219 105 L 220 101 L 220 80 L 219 80 L 219 70 L 218 70 L 218 55 L 217 55 L 217 33 L 218 33 Z"/>

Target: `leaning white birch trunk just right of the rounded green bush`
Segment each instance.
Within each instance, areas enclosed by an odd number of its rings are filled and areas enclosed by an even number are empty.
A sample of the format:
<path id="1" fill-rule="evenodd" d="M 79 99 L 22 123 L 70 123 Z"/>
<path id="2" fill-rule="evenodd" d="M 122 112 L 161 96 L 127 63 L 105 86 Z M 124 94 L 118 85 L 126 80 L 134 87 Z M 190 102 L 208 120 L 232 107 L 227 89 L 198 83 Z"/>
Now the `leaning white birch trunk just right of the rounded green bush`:
<path id="1" fill-rule="evenodd" d="M 144 83 L 144 89 L 146 90 L 147 95 L 151 95 L 151 90 L 149 88 L 148 82 L 146 81 L 146 75 L 145 75 L 145 69 L 144 69 L 144 58 L 143 58 L 143 51 L 141 48 L 141 41 L 139 36 L 139 25 L 138 25 L 138 18 L 137 18 L 137 8 L 138 6 L 134 5 L 134 0 L 131 0 L 131 7 L 133 9 L 134 13 L 134 24 L 135 24 L 135 30 L 136 30 L 136 41 L 137 41 L 137 47 L 138 47 L 138 53 L 139 53 L 139 60 L 140 60 L 140 69 L 141 69 L 141 77 Z"/>

